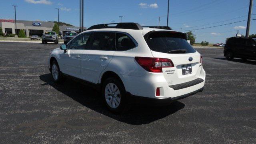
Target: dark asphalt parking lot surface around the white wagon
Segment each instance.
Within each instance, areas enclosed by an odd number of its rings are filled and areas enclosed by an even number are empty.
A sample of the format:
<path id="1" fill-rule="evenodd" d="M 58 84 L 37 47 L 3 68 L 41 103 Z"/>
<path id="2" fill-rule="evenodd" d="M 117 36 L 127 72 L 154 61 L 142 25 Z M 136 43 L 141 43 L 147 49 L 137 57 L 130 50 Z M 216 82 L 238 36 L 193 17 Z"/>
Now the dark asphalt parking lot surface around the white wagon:
<path id="1" fill-rule="evenodd" d="M 0 143 L 256 143 L 255 61 L 198 48 L 203 92 L 115 115 L 96 90 L 52 82 L 47 58 L 56 47 L 0 42 Z"/>

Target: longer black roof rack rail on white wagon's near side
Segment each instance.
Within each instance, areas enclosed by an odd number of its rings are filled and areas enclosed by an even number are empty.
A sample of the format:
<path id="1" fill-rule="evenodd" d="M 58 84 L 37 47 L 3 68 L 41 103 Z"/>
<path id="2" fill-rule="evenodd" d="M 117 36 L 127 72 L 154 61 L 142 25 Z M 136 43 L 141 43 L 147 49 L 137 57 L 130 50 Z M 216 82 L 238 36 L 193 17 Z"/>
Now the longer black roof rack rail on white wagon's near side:
<path id="1" fill-rule="evenodd" d="M 131 29 L 131 30 L 142 30 L 142 27 L 140 26 L 140 24 L 134 23 L 134 22 L 97 24 L 97 25 L 91 26 L 87 30 L 94 30 L 94 29 L 100 29 L 100 28 L 123 28 L 123 29 Z"/>

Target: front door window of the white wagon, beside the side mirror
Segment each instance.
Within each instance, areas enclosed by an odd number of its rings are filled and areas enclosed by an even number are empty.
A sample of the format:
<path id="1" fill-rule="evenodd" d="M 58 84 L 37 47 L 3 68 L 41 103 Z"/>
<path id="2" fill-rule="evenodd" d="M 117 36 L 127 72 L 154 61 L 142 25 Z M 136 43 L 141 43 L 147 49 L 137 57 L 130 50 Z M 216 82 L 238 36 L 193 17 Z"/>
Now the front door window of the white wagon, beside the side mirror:
<path id="1" fill-rule="evenodd" d="M 70 50 L 84 50 L 86 49 L 86 43 L 90 37 L 91 33 L 86 33 L 78 36 L 76 39 L 72 40 L 69 44 L 68 49 Z"/>

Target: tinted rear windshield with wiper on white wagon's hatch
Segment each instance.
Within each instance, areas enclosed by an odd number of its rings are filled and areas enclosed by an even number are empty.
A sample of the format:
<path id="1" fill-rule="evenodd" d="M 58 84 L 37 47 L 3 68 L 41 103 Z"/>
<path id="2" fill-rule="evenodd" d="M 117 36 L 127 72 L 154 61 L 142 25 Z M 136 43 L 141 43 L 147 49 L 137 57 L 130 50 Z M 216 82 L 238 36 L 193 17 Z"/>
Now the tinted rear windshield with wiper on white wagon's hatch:
<path id="1" fill-rule="evenodd" d="M 194 53 L 196 50 L 182 33 L 153 32 L 146 40 L 150 50 L 163 53 Z"/>

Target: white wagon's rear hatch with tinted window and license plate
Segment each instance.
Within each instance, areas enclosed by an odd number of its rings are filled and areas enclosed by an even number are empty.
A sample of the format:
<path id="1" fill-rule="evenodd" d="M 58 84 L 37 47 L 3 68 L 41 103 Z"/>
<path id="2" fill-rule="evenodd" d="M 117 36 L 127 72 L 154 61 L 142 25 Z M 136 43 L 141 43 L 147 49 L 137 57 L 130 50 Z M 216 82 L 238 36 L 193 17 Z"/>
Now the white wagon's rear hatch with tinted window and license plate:
<path id="1" fill-rule="evenodd" d="M 153 31 L 144 36 L 155 58 L 168 58 L 174 67 L 162 68 L 168 85 L 181 84 L 198 78 L 200 54 L 187 42 L 186 34 L 174 31 Z"/>

